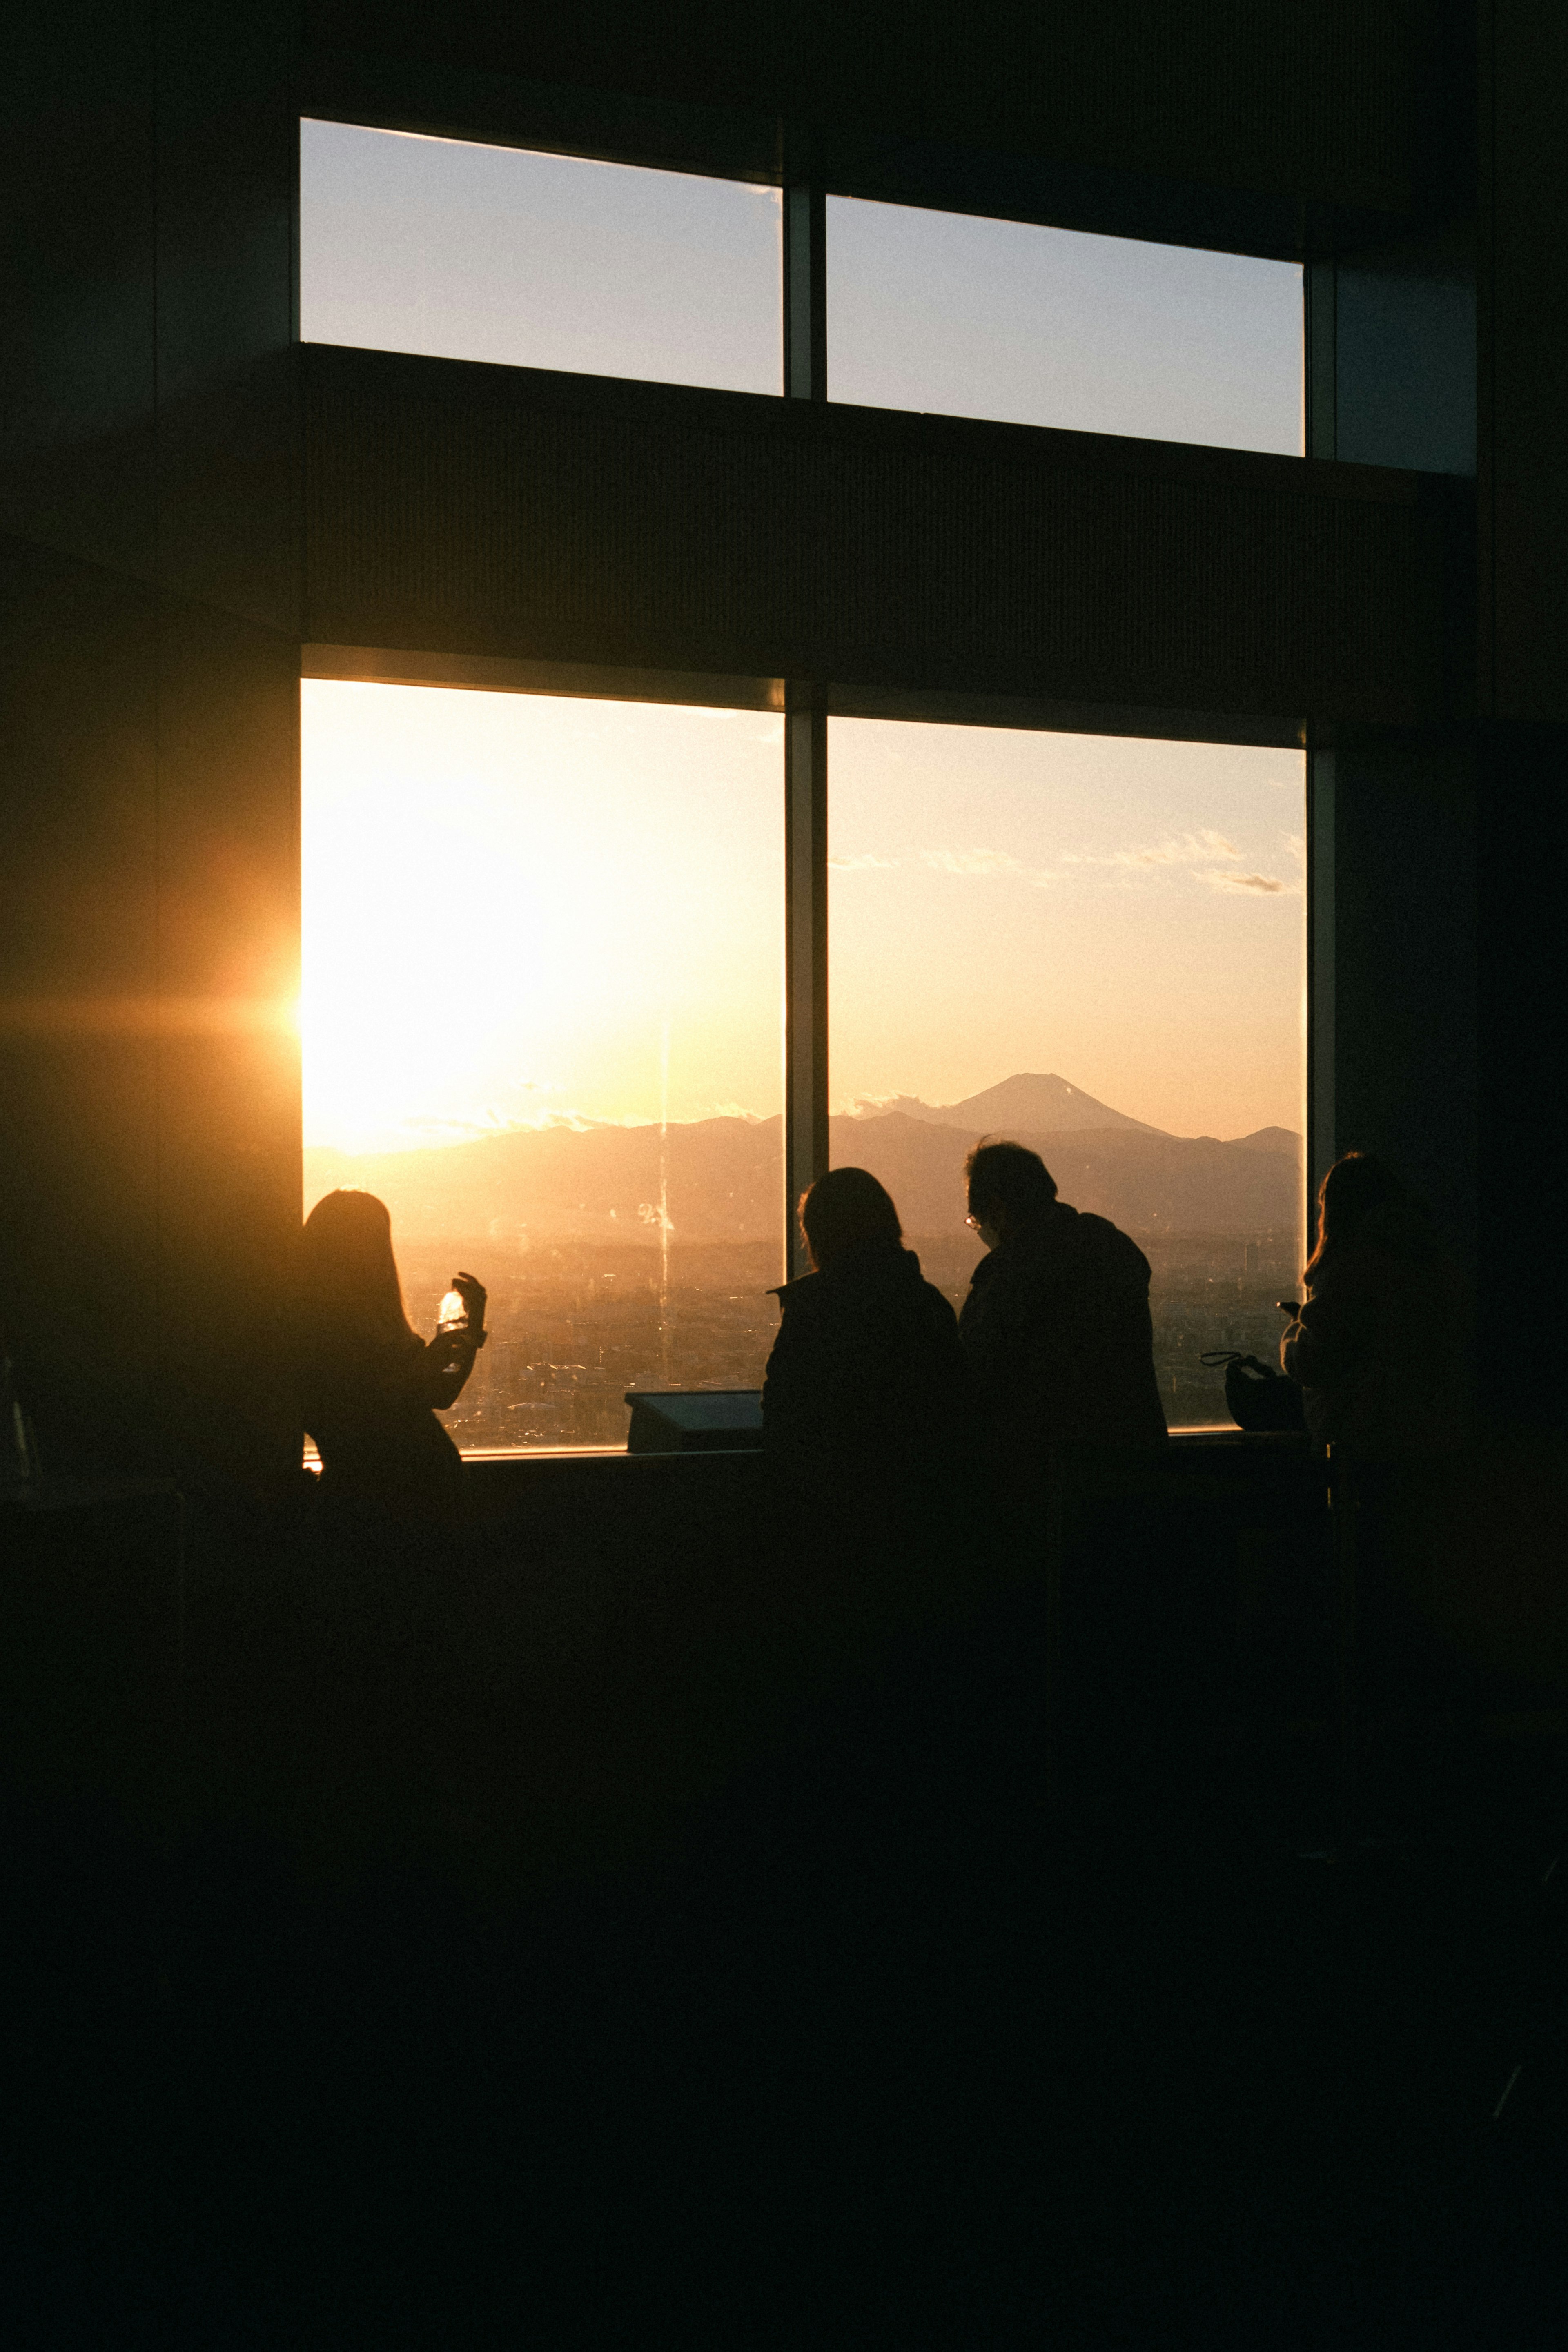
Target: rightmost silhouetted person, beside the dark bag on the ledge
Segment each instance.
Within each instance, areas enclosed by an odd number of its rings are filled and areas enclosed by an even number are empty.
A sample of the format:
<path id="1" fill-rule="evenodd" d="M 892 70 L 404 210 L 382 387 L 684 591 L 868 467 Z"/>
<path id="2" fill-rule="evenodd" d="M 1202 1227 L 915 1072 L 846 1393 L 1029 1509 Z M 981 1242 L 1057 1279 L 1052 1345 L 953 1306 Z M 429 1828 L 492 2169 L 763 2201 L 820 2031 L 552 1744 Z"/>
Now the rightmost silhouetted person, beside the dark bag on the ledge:
<path id="1" fill-rule="evenodd" d="M 1307 1303 L 1279 1343 L 1307 1428 L 1366 1463 L 1446 1454 L 1465 1439 L 1469 1298 L 1432 1216 L 1371 1152 L 1319 1185 Z"/>

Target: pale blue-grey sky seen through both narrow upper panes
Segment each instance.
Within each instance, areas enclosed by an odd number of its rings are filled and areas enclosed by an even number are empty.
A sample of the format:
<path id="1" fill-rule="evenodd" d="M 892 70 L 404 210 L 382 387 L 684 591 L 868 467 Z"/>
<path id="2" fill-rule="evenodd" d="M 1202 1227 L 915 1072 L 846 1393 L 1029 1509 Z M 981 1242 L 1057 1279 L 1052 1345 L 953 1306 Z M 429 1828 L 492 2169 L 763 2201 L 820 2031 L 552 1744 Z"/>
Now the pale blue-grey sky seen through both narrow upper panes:
<path id="1" fill-rule="evenodd" d="M 315 343 L 778 393 L 776 188 L 301 122 Z M 827 397 L 1300 449 L 1300 270 L 827 202 Z"/>

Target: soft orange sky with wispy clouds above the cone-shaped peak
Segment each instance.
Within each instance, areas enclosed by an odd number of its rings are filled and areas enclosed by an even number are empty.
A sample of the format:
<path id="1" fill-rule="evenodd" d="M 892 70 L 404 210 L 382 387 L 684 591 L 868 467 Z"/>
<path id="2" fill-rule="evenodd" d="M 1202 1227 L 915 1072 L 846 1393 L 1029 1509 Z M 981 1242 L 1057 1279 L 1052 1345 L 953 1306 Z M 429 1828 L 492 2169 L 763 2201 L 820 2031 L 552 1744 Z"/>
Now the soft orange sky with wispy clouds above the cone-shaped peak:
<path id="1" fill-rule="evenodd" d="M 1300 753 L 835 720 L 832 1096 L 1302 1124 Z"/>

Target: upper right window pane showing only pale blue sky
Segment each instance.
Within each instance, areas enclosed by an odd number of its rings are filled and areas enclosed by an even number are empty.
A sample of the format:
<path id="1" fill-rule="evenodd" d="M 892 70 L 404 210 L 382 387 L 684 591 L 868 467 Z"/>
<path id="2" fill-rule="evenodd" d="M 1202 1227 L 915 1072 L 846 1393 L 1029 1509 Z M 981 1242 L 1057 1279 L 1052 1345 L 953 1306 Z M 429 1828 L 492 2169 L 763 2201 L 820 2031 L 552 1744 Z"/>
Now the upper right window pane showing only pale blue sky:
<path id="1" fill-rule="evenodd" d="M 1300 268 L 832 198 L 827 397 L 1298 456 Z"/>

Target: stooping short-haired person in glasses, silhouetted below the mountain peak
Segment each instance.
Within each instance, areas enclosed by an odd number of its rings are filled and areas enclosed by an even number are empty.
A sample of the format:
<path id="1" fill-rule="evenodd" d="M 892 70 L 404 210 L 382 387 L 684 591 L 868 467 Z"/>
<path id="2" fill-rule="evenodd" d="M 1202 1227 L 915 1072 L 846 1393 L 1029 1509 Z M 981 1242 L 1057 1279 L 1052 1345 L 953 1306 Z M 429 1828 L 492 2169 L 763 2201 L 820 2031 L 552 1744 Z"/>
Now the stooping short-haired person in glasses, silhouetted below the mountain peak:
<path id="1" fill-rule="evenodd" d="M 999 1468 L 1027 1479 L 1056 1444 L 1164 1446 L 1145 1254 L 1060 1202 L 1023 1143 L 976 1145 L 966 1176 L 969 1223 L 990 1256 L 959 1336 Z"/>

